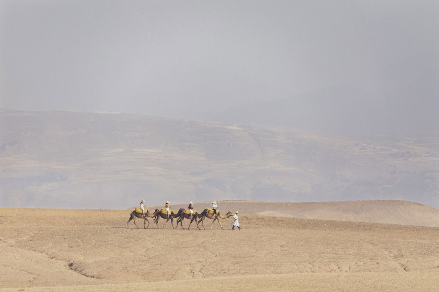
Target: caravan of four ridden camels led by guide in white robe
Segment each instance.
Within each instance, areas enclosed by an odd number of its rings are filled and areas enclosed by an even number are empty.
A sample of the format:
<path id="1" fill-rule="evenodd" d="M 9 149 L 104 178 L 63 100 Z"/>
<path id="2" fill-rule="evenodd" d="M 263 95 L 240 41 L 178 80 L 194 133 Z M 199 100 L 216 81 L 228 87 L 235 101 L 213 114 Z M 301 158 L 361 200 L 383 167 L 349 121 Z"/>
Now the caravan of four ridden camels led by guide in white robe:
<path id="1" fill-rule="evenodd" d="M 160 220 L 160 218 L 162 219 L 166 219 L 165 224 L 163 225 L 162 228 L 165 228 L 166 224 L 168 223 L 168 221 L 171 221 L 171 226 L 173 229 L 178 227 L 178 224 L 180 223 L 181 228 L 185 229 L 183 227 L 183 221 L 184 219 L 187 220 L 191 220 L 191 222 L 189 223 L 189 227 L 187 228 L 188 230 L 191 228 L 191 224 L 193 221 L 195 221 L 195 223 L 197 224 L 197 228 L 198 230 L 200 230 L 200 222 L 201 222 L 201 226 L 204 228 L 204 220 L 206 218 L 212 220 L 212 225 L 210 226 L 210 229 L 213 229 L 213 223 L 215 221 L 218 221 L 219 226 L 221 226 L 221 229 L 224 230 L 223 225 L 221 224 L 221 222 L 219 221 L 219 219 L 227 219 L 231 216 L 234 216 L 234 227 L 235 225 L 237 225 L 237 227 L 239 228 L 239 223 L 237 223 L 237 214 L 238 212 L 236 211 L 236 214 L 234 215 L 232 212 L 227 212 L 226 214 L 223 214 L 221 211 L 218 210 L 216 201 L 212 202 L 212 208 L 205 208 L 201 213 L 198 213 L 197 211 L 194 210 L 194 206 L 193 203 L 191 202 L 189 204 L 189 207 L 187 209 L 181 208 L 178 210 L 178 212 L 174 212 L 173 210 L 171 210 L 170 206 L 169 206 L 169 201 L 166 201 L 165 204 L 165 208 L 162 208 L 161 210 L 159 209 L 155 209 L 155 211 L 153 213 L 151 213 L 149 210 L 145 209 L 145 202 L 144 200 L 142 200 L 140 202 L 140 208 L 135 208 L 135 210 L 133 210 L 133 212 L 131 212 L 130 214 L 130 218 L 128 219 L 128 222 L 126 222 L 126 228 L 129 228 L 129 223 L 131 220 L 133 220 L 134 225 L 136 225 L 137 228 L 139 228 L 139 226 L 137 226 L 136 224 L 136 218 L 139 219 L 144 219 L 144 228 L 147 229 L 149 227 L 149 220 L 148 218 L 154 218 L 153 221 L 155 223 L 155 225 L 158 227 L 158 221 Z M 177 218 L 177 225 L 174 228 L 174 224 L 173 221 L 174 219 Z M 148 222 L 148 226 L 146 225 L 146 222 Z"/>

